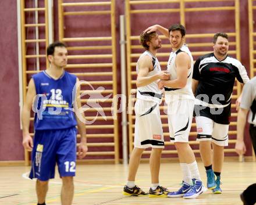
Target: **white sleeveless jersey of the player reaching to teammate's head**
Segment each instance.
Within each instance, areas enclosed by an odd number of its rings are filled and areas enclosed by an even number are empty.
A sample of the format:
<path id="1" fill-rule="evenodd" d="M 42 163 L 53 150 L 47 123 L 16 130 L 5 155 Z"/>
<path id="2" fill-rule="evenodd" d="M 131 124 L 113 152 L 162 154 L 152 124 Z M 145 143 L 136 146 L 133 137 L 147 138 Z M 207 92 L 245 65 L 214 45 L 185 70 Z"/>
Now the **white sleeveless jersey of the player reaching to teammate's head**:
<path id="1" fill-rule="evenodd" d="M 180 52 L 186 52 L 190 56 L 190 69 L 187 70 L 187 84 L 184 88 L 165 88 L 165 101 L 173 102 L 177 99 L 195 99 L 192 91 L 192 76 L 194 61 L 186 44 L 177 49 L 175 52 L 170 53 L 170 57 L 167 64 L 167 71 L 170 74 L 170 80 L 177 78 L 177 69 L 175 65 L 176 56 Z"/>

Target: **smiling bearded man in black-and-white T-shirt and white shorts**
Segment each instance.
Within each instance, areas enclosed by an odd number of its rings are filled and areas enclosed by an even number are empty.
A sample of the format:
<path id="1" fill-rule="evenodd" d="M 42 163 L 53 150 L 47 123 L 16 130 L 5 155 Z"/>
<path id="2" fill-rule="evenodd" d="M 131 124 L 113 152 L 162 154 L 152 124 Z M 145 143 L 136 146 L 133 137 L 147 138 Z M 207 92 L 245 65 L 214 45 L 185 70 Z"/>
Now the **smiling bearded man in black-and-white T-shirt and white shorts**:
<path id="1" fill-rule="evenodd" d="M 224 147 L 228 145 L 234 81 L 237 78 L 241 84 L 245 84 L 249 78 L 239 60 L 227 55 L 227 34 L 216 33 L 213 48 L 214 52 L 196 60 L 192 87 L 195 93 L 197 140 L 200 142 L 200 154 L 207 174 L 207 187 L 219 194 L 222 193 L 221 171 Z"/>

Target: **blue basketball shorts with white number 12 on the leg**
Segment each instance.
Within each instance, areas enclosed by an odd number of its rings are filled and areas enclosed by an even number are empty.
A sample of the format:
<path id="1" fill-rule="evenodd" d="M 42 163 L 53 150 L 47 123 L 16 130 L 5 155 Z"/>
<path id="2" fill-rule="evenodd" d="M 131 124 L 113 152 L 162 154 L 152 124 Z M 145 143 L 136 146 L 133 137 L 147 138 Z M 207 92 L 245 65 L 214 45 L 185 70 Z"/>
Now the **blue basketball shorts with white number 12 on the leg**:
<path id="1" fill-rule="evenodd" d="M 56 164 L 60 177 L 73 177 L 76 172 L 76 132 L 75 127 L 35 131 L 29 177 L 48 181 L 55 176 Z"/>

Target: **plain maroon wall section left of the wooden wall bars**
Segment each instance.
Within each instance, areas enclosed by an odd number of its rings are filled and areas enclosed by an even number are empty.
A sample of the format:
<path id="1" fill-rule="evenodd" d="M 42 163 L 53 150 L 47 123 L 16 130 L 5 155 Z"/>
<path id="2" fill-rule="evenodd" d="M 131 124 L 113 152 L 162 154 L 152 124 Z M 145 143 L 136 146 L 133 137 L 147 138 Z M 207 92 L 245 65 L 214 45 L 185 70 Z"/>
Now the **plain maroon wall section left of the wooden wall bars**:
<path id="1" fill-rule="evenodd" d="M 16 1 L 0 1 L 0 161 L 23 160 Z"/>

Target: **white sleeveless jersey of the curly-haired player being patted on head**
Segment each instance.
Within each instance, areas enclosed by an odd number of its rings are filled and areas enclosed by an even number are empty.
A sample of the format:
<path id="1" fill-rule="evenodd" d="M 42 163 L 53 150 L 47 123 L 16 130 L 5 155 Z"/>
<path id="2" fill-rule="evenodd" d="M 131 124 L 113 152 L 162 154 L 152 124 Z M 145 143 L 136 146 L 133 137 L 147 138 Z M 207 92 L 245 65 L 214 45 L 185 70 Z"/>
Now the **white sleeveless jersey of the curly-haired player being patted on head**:
<path id="1" fill-rule="evenodd" d="M 152 57 L 152 62 L 153 62 L 153 66 L 154 66 L 154 69 L 152 71 L 150 71 L 147 76 L 161 73 L 161 67 L 158 62 L 157 57 L 152 55 L 152 53 L 149 51 L 145 51 L 143 54 L 141 54 L 140 58 L 138 59 L 138 62 L 140 61 L 141 57 L 143 57 L 145 55 Z M 137 62 L 137 66 L 136 66 L 137 73 L 138 73 L 138 69 L 139 69 L 138 62 Z M 158 81 L 159 80 L 151 82 L 150 84 L 145 85 L 143 87 L 138 87 L 137 88 L 137 99 L 153 101 L 153 102 L 157 102 L 160 104 L 162 102 L 162 91 L 158 89 L 158 85 L 157 85 Z"/>

